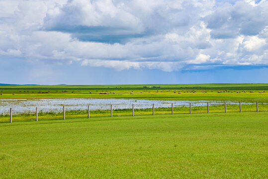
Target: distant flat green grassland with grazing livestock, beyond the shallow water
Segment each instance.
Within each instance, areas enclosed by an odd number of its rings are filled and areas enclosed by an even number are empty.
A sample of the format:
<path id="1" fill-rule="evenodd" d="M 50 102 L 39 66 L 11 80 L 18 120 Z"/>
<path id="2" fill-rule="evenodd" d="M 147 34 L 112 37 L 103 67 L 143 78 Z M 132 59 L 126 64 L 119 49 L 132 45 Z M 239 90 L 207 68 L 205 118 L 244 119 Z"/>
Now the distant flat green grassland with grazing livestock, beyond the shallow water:
<path id="1" fill-rule="evenodd" d="M 161 88 L 143 88 L 143 86 L 160 86 Z M 242 92 L 242 90 L 245 90 L 246 92 Z M 255 92 L 251 93 L 251 90 Z M 174 93 L 174 91 L 176 93 Z M 218 93 L 217 91 L 222 92 Z M 240 91 L 241 93 L 237 93 L 237 91 Z M 260 91 L 266 92 L 259 93 Z M 100 92 L 108 92 L 109 94 L 99 94 Z M 131 92 L 133 92 L 133 94 L 131 94 Z M 0 99 L 87 97 L 159 100 L 236 100 L 248 102 L 267 102 L 268 84 L 0 86 L 0 93 L 2 93 L 2 95 L 0 95 Z"/>

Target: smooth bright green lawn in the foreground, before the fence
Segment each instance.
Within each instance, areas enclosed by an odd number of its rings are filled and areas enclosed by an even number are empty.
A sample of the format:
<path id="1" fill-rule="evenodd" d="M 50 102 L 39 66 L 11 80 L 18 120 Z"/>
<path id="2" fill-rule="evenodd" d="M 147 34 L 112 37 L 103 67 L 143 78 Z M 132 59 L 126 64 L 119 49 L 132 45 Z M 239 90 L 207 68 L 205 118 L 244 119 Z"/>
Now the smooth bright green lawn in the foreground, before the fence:
<path id="1" fill-rule="evenodd" d="M 0 178 L 268 178 L 268 114 L 3 123 Z"/>

